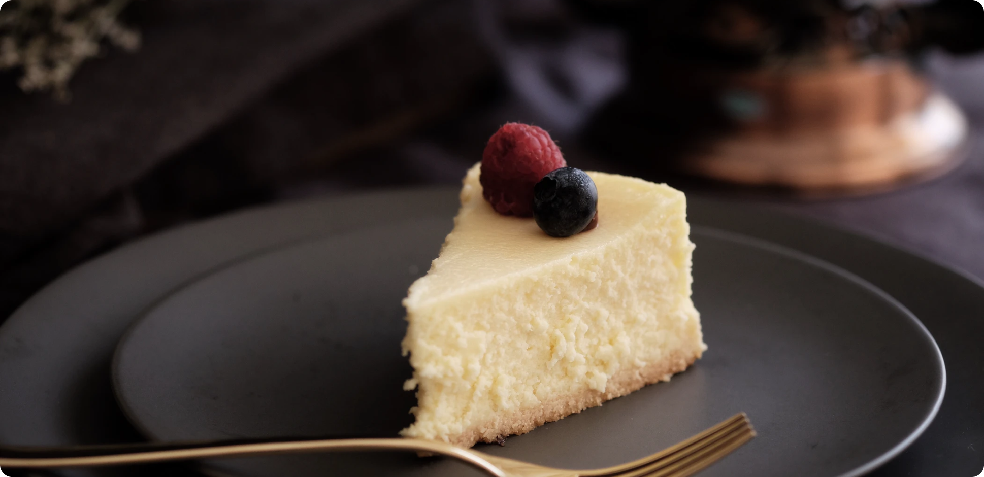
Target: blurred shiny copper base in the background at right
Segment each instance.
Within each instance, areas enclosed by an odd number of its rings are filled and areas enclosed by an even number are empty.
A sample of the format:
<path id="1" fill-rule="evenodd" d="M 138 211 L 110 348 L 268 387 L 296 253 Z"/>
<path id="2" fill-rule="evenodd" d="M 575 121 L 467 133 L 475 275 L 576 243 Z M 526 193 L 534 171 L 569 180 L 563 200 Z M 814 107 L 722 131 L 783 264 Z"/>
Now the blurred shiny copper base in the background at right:
<path id="1" fill-rule="evenodd" d="M 900 60 L 727 74 L 735 128 L 682 160 L 713 179 L 802 191 L 883 188 L 959 162 L 962 112 Z"/>

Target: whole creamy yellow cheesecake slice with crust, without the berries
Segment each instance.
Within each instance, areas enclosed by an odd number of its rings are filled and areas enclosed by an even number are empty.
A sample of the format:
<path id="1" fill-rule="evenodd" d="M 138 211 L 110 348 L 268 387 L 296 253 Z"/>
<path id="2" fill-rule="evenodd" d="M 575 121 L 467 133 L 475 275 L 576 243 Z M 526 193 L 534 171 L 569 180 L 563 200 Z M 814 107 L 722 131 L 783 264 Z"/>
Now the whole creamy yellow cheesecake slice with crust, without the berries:
<path id="1" fill-rule="evenodd" d="M 523 434 L 685 370 L 707 349 L 683 193 L 588 172 L 598 226 L 552 238 L 482 198 L 479 166 L 403 305 L 417 388 L 404 437 L 461 447 Z"/>

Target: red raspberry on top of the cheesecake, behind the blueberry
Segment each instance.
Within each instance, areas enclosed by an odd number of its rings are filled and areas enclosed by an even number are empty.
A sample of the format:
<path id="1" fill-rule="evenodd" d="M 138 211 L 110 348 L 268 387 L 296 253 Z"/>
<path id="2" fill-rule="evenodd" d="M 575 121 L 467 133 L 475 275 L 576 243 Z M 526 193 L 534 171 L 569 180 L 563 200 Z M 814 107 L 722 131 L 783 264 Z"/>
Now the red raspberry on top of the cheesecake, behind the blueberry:
<path id="1" fill-rule="evenodd" d="M 536 126 L 506 123 L 482 153 L 482 196 L 503 215 L 531 217 L 533 186 L 567 165 L 550 135 Z"/>

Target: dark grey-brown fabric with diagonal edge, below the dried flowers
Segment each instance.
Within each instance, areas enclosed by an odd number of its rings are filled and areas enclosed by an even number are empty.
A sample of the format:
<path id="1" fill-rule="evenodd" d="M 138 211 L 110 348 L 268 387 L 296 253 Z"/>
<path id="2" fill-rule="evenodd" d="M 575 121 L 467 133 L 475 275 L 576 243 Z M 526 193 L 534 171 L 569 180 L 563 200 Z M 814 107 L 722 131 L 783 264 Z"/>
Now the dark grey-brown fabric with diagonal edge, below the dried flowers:
<path id="1" fill-rule="evenodd" d="M 78 220 L 352 35 L 412 0 L 135 2 L 136 54 L 83 66 L 72 101 L 0 97 L 0 233 Z"/>

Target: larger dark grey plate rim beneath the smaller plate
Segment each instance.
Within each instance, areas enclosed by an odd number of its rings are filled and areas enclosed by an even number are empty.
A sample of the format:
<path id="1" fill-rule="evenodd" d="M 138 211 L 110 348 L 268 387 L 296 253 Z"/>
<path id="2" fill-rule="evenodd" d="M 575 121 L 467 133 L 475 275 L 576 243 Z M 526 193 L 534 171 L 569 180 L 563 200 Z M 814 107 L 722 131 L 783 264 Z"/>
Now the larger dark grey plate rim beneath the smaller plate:
<path id="1" fill-rule="evenodd" d="M 457 207 L 458 190 L 443 188 L 247 210 L 134 242 L 75 268 L 0 327 L 0 444 L 138 439 L 112 397 L 109 362 L 125 329 L 155 300 L 196 276 L 284 243 L 387 220 L 449 217 Z M 689 213 L 691 223 L 768 239 L 857 273 L 919 316 L 949 365 L 948 395 L 923 436 L 875 475 L 980 473 L 979 280 L 883 242 L 782 213 L 696 197 L 690 198 Z"/>

